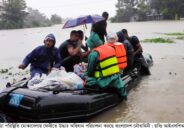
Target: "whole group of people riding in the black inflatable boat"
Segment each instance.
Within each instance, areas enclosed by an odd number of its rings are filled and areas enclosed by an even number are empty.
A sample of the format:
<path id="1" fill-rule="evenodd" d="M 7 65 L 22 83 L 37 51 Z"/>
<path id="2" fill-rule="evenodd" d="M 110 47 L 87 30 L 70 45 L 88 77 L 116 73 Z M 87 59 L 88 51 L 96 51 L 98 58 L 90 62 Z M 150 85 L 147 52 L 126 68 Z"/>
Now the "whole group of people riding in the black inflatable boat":
<path id="1" fill-rule="evenodd" d="M 86 62 L 86 71 L 79 75 L 86 86 L 98 86 L 102 89 L 111 86 L 122 97 L 126 97 L 120 75 L 132 70 L 135 59 L 142 57 L 142 47 L 139 39 L 136 36 L 129 37 L 126 29 L 107 34 L 109 14 L 104 12 L 102 16 L 104 20 L 92 25 L 86 45 L 82 43 L 84 33 L 81 30 L 71 31 L 69 39 L 59 48 L 55 47 L 55 36 L 49 34 L 44 39 L 44 45 L 30 52 L 19 68 L 25 69 L 31 64 L 30 75 L 33 78 L 38 74 L 49 74 L 52 69 L 59 69 L 61 66 L 67 72 L 75 72 L 76 65 L 82 66 L 82 62 Z"/>

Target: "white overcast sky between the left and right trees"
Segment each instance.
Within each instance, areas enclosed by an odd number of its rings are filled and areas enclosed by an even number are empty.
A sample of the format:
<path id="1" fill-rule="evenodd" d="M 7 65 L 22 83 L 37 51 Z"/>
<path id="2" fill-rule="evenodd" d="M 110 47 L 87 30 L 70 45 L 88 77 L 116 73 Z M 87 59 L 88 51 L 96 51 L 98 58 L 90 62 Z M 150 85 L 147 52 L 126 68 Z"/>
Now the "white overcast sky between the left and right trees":
<path id="1" fill-rule="evenodd" d="M 38 9 L 50 17 L 58 14 L 63 18 L 87 14 L 99 14 L 107 11 L 110 17 L 116 14 L 117 0 L 25 0 L 27 6 Z"/>

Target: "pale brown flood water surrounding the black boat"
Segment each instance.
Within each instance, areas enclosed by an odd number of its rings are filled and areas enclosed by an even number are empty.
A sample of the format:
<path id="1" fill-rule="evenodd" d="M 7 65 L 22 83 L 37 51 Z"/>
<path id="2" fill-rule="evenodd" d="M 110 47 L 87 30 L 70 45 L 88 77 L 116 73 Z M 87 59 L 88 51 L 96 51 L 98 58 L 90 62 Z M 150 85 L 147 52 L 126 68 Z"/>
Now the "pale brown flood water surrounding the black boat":
<path id="1" fill-rule="evenodd" d="M 159 21 L 108 24 L 108 31 L 116 32 L 126 28 L 130 35 L 141 40 L 154 37 L 168 37 L 164 33 L 184 32 L 184 21 Z M 74 29 L 82 29 L 77 27 Z M 0 69 L 10 68 L 9 75 L 0 74 L 0 87 L 6 82 L 21 79 L 26 73 L 17 66 L 36 46 L 43 44 L 48 33 L 55 34 L 58 47 L 69 37 L 72 29 L 62 25 L 47 28 L 33 28 L 0 31 Z M 90 26 L 87 30 L 89 35 Z M 172 37 L 171 37 L 172 38 Z M 174 39 L 174 37 L 173 37 Z M 174 44 L 142 43 L 145 52 L 152 55 L 152 75 L 143 77 L 128 95 L 128 100 L 108 110 L 89 122 L 184 122 L 184 41 Z"/>

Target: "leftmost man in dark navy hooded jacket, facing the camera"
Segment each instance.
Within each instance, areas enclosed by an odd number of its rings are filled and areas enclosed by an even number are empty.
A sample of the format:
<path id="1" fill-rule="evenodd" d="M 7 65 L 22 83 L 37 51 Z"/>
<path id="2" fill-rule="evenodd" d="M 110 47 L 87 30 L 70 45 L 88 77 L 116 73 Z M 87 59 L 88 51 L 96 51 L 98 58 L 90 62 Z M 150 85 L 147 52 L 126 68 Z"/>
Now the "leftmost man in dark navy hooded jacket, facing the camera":
<path id="1" fill-rule="evenodd" d="M 53 34 L 49 34 L 44 39 L 44 45 L 38 46 L 29 53 L 19 65 L 19 69 L 25 69 L 29 64 L 31 78 L 36 75 L 48 74 L 51 69 L 60 68 L 61 56 L 55 47 L 56 39 Z"/>

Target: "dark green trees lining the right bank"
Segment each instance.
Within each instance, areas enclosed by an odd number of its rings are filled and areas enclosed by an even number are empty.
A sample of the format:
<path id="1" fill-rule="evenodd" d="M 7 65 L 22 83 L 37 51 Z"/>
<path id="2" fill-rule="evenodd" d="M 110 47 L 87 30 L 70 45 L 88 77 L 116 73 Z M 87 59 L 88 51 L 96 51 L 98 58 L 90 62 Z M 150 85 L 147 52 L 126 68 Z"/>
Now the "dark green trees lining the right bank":
<path id="1" fill-rule="evenodd" d="M 184 17 L 184 0 L 118 0 L 116 7 L 112 22 L 128 22 L 135 18 L 145 21 L 148 16 L 156 15 L 169 20 Z"/>

